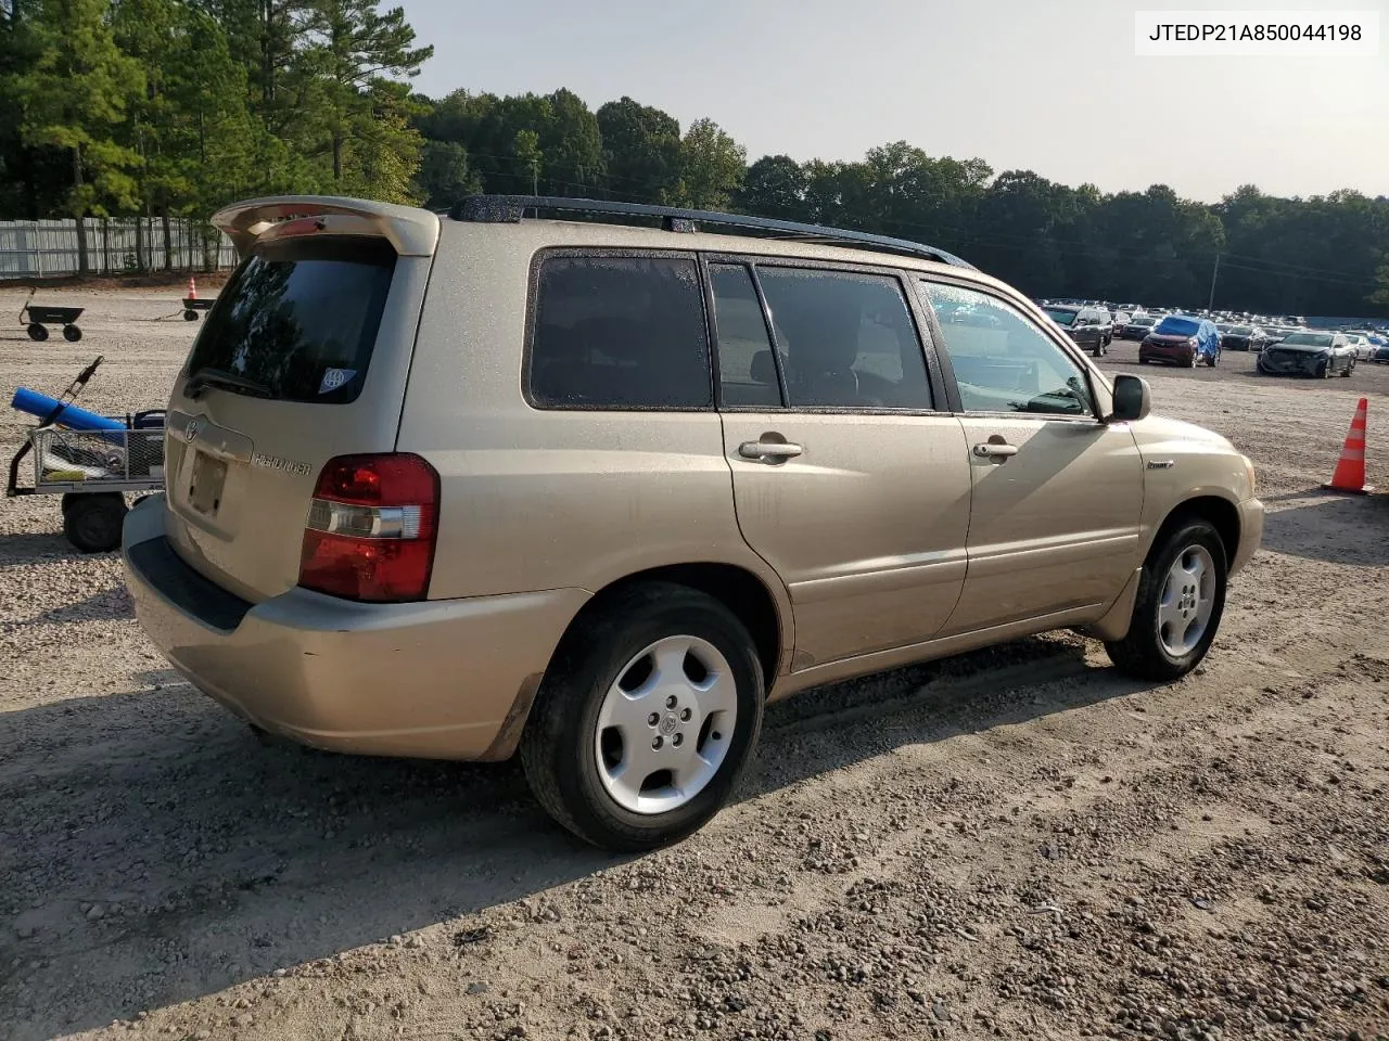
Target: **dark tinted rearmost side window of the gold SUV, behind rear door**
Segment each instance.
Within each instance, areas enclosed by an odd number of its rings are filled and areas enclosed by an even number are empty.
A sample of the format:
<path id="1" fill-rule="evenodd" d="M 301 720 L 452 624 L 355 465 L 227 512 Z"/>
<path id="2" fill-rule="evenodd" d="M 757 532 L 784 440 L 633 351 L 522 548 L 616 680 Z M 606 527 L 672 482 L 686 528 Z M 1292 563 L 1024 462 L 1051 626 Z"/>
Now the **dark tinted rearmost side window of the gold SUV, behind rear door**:
<path id="1" fill-rule="evenodd" d="M 704 303 L 693 260 L 546 257 L 531 341 L 542 408 L 708 408 Z"/>

